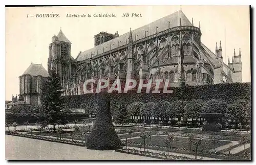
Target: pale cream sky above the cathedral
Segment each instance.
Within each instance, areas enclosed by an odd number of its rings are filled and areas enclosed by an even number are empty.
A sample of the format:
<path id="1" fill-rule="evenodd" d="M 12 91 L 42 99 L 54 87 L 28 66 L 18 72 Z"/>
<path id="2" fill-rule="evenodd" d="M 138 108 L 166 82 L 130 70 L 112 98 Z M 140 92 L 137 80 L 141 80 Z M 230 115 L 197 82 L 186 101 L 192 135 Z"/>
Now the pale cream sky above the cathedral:
<path id="1" fill-rule="evenodd" d="M 225 63 L 234 49 L 242 53 L 242 82 L 250 82 L 250 21 L 249 6 L 84 6 L 84 7 L 19 7 L 6 8 L 6 100 L 19 94 L 18 77 L 32 63 L 47 69 L 49 44 L 60 28 L 72 42 L 71 55 L 94 47 L 99 32 L 122 35 L 182 8 L 194 26 L 201 22 L 201 42 L 215 53 L 221 41 Z M 115 14 L 116 17 L 93 17 L 93 14 Z M 122 17 L 123 13 L 141 13 L 141 17 Z M 36 14 L 58 14 L 40 18 Z M 79 14 L 69 17 L 67 14 Z M 92 17 L 81 17 L 92 14 Z M 34 17 L 30 15 L 35 15 Z M 28 17 L 27 17 L 28 16 Z"/>

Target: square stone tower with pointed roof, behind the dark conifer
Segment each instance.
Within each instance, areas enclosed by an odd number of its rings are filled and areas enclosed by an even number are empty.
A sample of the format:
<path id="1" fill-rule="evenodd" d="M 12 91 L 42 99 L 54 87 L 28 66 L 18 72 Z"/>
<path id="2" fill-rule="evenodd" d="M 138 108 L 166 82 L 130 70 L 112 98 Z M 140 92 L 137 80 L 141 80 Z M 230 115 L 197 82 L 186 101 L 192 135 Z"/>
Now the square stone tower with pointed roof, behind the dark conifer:
<path id="1" fill-rule="evenodd" d="M 71 81 L 76 68 L 73 63 L 75 59 L 71 56 L 71 42 L 60 29 L 58 35 L 52 37 L 52 43 L 49 45 L 48 72 L 51 69 L 56 70 L 61 82 L 67 83 Z"/>

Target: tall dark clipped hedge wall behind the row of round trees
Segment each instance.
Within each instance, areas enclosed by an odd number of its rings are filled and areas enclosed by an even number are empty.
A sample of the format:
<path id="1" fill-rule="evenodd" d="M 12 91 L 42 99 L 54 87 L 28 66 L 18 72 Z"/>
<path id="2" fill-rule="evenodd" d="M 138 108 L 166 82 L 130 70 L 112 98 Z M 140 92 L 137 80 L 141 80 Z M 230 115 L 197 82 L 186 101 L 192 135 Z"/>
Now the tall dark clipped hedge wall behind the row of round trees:
<path id="1" fill-rule="evenodd" d="M 116 108 L 120 101 L 124 101 L 129 105 L 133 102 L 158 102 L 160 100 L 174 101 L 184 100 L 191 101 L 193 99 L 202 99 L 208 101 L 218 99 L 232 103 L 235 100 L 251 99 L 251 83 L 231 83 L 231 84 L 214 84 L 200 86 L 183 86 L 171 87 L 173 93 L 137 93 L 137 90 L 130 90 L 127 93 L 113 92 L 110 95 L 111 107 Z M 169 89 L 168 89 L 169 90 Z M 69 108 L 93 108 L 95 109 L 95 93 L 86 95 L 63 96 Z"/>

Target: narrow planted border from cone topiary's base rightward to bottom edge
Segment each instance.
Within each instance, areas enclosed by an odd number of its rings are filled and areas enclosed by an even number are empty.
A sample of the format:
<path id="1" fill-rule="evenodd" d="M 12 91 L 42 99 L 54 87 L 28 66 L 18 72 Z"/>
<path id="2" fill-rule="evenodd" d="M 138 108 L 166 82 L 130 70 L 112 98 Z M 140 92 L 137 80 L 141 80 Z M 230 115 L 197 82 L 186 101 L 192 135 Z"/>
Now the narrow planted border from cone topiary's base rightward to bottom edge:
<path id="1" fill-rule="evenodd" d="M 156 153 L 156 152 L 142 151 L 137 149 L 121 149 L 121 150 L 116 150 L 116 152 L 146 156 L 146 157 L 152 157 L 152 158 L 164 159 L 164 160 L 194 160 L 185 156 L 167 155 L 165 154 L 165 152 Z"/>

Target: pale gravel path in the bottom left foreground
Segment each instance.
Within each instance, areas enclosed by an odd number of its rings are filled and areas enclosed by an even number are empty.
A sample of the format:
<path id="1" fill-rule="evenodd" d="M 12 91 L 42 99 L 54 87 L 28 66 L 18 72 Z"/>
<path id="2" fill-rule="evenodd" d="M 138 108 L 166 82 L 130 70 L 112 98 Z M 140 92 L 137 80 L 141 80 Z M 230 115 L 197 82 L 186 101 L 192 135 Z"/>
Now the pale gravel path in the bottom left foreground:
<path id="1" fill-rule="evenodd" d="M 68 144 L 6 135 L 5 157 L 8 160 L 156 160 L 115 151 L 89 150 Z"/>

